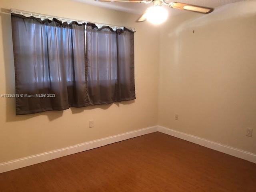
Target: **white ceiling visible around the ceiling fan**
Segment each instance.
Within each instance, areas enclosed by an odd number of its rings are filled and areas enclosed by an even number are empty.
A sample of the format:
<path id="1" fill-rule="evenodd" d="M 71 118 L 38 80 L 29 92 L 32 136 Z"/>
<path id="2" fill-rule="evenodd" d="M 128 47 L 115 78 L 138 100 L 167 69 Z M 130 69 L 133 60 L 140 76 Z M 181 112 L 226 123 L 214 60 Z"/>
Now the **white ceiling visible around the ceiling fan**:
<path id="1" fill-rule="evenodd" d="M 146 8 L 152 6 L 152 3 L 144 4 L 144 3 L 128 3 L 128 2 L 98 2 L 95 0 L 75 0 L 75 1 L 91 4 L 94 6 L 100 6 L 108 9 L 113 9 L 113 10 L 135 13 L 135 14 L 142 14 L 146 10 Z M 234 2 L 243 1 L 243 0 L 173 0 L 173 1 L 216 8 L 224 4 L 234 3 Z M 168 2 L 172 2 L 172 1 L 170 0 Z M 184 11 L 182 10 L 177 10 L 177 9 L 175 10 L 169 9 L 169 10 L 171 10 L 170 13 L 172 15 L 184 13 Z"/>

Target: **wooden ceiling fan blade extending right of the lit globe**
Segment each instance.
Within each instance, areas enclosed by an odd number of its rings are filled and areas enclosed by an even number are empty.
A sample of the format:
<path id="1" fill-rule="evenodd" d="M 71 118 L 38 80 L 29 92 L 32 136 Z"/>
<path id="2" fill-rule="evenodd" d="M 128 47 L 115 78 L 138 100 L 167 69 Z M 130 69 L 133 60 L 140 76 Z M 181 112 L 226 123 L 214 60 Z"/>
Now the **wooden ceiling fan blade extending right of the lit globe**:
<path id="1" fill-rule="evenodd" d="M 213 8 L 209 8 L 209 7 L 202 7 L 202 6 L 196 6 L 196 5 L 190 5 L 190 4 L 178 3 L 178 2 L 171 2 L 169 6 L 171 8 L 194 11 L 194 12 L 204 13 L 204 14 L 211 13 L 214 10 Z"/>

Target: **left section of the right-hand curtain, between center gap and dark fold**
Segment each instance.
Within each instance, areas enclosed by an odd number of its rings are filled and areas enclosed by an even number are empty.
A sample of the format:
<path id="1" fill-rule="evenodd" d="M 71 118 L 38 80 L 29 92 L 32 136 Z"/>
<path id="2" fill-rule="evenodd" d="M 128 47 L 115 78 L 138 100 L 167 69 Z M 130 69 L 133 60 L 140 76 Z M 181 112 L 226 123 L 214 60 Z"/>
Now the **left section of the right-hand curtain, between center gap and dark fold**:
<path id="1" fill-rule="evenodd" d="M 119 101 L 116 32 L 87 24 L 88 95 L 90 104 Z"/>

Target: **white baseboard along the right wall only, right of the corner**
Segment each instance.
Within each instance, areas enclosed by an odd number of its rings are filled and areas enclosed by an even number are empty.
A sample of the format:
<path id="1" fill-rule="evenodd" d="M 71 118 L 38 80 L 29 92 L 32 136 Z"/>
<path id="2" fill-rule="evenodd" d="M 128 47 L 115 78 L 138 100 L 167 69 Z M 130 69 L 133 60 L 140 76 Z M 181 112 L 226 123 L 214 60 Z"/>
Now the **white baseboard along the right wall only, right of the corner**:
<path id="1" fill-rule="evenodd" d="M 256 154 L 253 154 L 253 153 L 250 153 L 247 151 L 243 151 L 240 149 L 236 149 L 236 148 L 233 148 L 230 146 L 226 146 L 226 145 L 223 145 L 223 144 L 220 144 L 217 142 L 213 142 L 210 140 L 206 140 L 204 138 L 200 138 L 200 137 L 197 137 L 194 135 L 190 135 L 190 134 L 186 134 L 186 133 L 179 132 L 176 130 L 172 130 L 170 128 L 166 128 L 163 126 L 158 126 L 157 130 L 164 134 L 168 134 L 168 135 L 171 135 L 171 136 L 174 136 L 174 137 L 177 137 L 177 138 L 180 138 L 180 139 L 183 139 L 183 140 L 186 140 L 186 141 L 189 141 L 192 143 L 196 143 L 198 145 L 216 150 L 216 151 L 220 151 L 222 153 L 226 153 L 226 154 L 256 163 Z"/>

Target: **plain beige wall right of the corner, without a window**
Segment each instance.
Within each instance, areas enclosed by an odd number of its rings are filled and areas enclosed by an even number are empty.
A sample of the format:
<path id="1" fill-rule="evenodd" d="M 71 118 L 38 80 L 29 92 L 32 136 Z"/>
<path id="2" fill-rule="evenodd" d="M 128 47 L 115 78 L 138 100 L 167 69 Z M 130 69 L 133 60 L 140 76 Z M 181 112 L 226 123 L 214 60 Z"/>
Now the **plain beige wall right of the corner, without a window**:
<path id="1" fill-rule="evenodd" d="M 160 42 L 158 124 L 256 154 L 256 1 L 170 19 Z"/>

